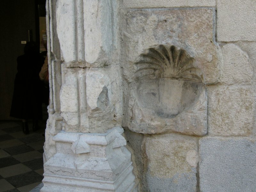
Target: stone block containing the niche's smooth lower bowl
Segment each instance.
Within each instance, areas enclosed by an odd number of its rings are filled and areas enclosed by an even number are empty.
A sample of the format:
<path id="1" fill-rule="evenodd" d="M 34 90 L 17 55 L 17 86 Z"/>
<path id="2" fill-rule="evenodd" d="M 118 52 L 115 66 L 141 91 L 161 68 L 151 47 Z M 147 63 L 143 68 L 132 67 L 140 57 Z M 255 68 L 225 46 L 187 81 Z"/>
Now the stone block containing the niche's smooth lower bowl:
<path id="1" fill-rule="evenodd" d="M 147 134 L 166 132 L 206 134 L 207 95 L 204 86 L 181 80 L 166 80 L 163 84 L 166 87 L 162 91 L 159 91 L 161 83 L 156 81 L 156 86 L 148 84 L 143 88 L 145 95 L 140 96 L 132 92 L 129 100 L 130 111 L 128 111 L 130 117 L 123 119 L 123 126 L 129 127 L 134 132 Z M 175 87 L 175 84 L 181 85 Z M 132 86 L 132 90 L 138 91 L 135 88 L 137 84 Z"/>

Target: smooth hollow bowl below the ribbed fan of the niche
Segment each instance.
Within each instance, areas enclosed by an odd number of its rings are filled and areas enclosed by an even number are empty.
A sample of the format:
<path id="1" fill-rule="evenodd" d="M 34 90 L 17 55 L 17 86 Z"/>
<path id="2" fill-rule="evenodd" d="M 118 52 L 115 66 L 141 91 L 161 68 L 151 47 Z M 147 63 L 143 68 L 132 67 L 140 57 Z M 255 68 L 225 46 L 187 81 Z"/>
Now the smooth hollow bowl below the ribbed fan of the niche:
<path id="1" fill-rule="evenodd" d="M 174 117 L 193 106 L 202 86 L 202 83 L 170 78 L 140 81 L 137 102 L 157 116 Z"/>

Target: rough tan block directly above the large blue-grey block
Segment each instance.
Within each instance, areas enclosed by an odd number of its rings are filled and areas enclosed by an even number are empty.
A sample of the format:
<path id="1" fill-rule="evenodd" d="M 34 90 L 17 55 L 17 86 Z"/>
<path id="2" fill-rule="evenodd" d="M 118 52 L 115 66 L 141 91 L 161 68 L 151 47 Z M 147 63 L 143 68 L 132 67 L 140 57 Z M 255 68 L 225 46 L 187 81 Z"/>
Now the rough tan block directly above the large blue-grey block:
<path id="1" fill-rule="evenodd" d="M 254 122 L 255 93 L 250 87 L 209 86 L 210 135 L 249 135 Z"/>

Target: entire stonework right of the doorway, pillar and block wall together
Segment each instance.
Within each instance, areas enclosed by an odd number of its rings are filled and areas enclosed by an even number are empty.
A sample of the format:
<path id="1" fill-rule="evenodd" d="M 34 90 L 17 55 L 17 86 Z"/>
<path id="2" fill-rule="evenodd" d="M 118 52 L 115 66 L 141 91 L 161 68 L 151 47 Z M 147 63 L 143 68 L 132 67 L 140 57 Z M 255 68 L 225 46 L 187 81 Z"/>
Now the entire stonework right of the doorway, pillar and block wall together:
<path id="1" fill-rule="evenodd" d="M 252 0 L 47 6 L 42 191 L 255 191 Z"/>

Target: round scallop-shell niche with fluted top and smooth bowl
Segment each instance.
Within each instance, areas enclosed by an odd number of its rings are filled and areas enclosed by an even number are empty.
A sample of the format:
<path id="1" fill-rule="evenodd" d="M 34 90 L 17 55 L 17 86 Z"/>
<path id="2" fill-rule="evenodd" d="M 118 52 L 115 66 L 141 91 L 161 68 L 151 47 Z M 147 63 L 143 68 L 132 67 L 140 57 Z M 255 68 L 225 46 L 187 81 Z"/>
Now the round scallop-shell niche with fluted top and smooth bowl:
<path id="1" fill-rule="evenodd" d="M 160 45 L 141 54 L 136 63 L 137 99 L 156 115 L 173 117 L 188 109 L 201 92 L 201 71 L 185 50 Z"/>

